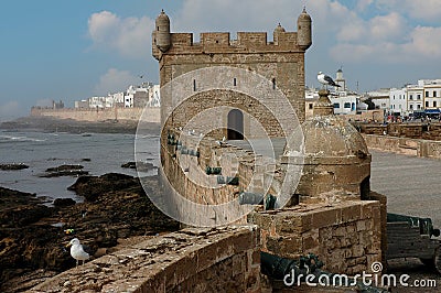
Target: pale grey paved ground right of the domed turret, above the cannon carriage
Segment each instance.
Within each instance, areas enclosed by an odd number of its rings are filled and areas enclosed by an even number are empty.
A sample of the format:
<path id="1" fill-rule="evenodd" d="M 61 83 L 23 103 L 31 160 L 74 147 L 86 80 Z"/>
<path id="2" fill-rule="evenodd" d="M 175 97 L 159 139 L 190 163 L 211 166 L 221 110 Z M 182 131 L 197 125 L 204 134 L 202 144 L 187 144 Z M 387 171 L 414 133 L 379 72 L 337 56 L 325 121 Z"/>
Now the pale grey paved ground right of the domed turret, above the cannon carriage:
<path id="1" fill-rule="evenodd" d="M 388 211 L 430 217 L 441 228 L 441 161 L 370 153 L 370 189 L 387 196 Z"/>

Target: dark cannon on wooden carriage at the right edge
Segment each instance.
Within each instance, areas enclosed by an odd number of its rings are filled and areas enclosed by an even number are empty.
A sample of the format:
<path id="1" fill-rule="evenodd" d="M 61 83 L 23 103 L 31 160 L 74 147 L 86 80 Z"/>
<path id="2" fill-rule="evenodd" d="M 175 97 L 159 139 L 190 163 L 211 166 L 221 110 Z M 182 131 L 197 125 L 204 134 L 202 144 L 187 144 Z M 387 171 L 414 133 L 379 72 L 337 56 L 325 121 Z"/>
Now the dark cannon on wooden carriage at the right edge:
<path id="1" fill-rule="evenodd" d="M 422 263 L 441 273 L 440 230 L 430 218 L 387 214 L 386 260 L 419 258 Z"/>

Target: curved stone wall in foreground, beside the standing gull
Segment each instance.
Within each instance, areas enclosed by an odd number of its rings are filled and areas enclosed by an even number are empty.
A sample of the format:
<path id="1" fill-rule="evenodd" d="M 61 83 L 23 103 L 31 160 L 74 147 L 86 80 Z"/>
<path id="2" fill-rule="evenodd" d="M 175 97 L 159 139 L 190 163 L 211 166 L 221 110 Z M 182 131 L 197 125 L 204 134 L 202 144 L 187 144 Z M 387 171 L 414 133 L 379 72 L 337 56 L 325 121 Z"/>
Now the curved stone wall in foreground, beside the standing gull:
<path id="1" fill-rule="evenodd" d="M 260 292 L 259 230 L 180 230 L 89 261 L 30 292 Z"/>

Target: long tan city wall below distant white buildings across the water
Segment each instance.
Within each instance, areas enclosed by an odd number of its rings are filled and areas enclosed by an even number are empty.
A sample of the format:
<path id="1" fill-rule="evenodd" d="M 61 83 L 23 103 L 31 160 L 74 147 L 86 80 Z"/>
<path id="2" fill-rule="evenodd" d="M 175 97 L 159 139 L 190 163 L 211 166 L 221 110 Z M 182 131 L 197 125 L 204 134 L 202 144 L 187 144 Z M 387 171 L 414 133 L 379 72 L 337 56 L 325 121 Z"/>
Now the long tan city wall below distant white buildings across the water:
<path id="1" fill-rule="evenodd" d="M 53 117 L 57 119 L 73 119 L 85 122 L 100 122 L 107 120 L 131 120 L 138 121 L 144 108 L 111 108 L 111 109 L 45 109 L 32 108 L 32 117 Z M 146 108 L 146 122 L 159 123 L 160 108 Z"/>

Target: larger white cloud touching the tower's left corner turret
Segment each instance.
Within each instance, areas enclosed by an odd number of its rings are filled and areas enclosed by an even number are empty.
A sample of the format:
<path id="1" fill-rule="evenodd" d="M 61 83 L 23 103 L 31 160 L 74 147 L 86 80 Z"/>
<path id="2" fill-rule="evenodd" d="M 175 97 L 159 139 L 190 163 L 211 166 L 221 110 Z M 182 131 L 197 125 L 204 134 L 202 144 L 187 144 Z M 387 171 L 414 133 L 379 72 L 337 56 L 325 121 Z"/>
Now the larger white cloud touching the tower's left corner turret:
<path id="1" fill-rule="evenodd" d="M 99 50 L 114 50 L 130 58 L 146 59 L 150 56 L 151 35 L 154 21 L 150 18 L 126 18 L 101 11 L 90 15 L 88 35 L 93 46 Z"/>

